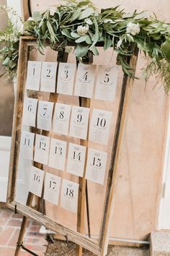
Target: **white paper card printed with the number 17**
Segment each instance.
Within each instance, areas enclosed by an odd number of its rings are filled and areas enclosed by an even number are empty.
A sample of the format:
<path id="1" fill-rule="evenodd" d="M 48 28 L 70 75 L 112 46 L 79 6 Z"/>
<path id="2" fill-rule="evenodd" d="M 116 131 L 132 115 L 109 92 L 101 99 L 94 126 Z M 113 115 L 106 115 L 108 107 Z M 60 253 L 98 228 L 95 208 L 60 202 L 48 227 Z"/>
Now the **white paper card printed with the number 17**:
<path id="1" fill-rule="evenodd" d="M 58 205 L 58 199 L 60 195 L 61 188 L 61 177 L 49 174 L 45 174 L 45 189 L 44 189 L 44 199 L 53 202 Z"/>

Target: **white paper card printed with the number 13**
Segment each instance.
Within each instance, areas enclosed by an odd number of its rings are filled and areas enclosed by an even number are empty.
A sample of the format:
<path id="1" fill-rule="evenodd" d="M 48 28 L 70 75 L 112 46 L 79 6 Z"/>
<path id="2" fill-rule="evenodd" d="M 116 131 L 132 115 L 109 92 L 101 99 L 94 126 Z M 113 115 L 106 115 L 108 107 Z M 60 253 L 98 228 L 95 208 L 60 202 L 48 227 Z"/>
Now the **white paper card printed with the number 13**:
<path id="1" fill-rule="evenodd" d="M 67 142 L 63 140 L 50 140 L 50 156 L 48 166 L 64 171 L 66 161 Z"/>

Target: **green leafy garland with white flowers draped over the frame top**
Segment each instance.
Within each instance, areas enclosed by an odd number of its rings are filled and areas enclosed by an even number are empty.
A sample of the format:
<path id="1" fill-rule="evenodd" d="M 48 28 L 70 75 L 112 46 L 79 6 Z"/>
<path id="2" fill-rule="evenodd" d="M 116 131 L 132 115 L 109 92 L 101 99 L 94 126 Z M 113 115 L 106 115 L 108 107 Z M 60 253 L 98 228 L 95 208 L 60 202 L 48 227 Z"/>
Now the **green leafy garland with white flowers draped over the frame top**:
<path id="1" fill-rule="evenodd" d="M 12 12 L 12 9 L 7 9 L 7 12 Z M 131 77 L 134 71 L 127 62 L 127 56 L 132 55 L 137 46 L 148 59 L 143 72 L 146 80 L 152 74 L 158 74 L 165 90 L 170 88 L 170 25 L 151 17 L 148 12 L 126 14 L 119 7 L 99 11 L 89 0 L 71 0 L 43 13 L 34 12 L 23 24 L 23 30 L 17 29 L 10 17 L 8 27 L 0 32 L 0 57 L 12 77 L 17 69 L 19 37 L 32 35 L 37 38 L 42 53 L 47 40 L 56 51 L 75 43 L 74 53 L 80 61 L 89 51 L 99 55 L 97 43 L 104 46 L 104 51 L 112 47 L 117 53 L 117 64 Z"/>

